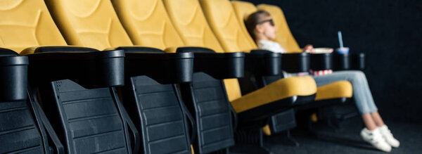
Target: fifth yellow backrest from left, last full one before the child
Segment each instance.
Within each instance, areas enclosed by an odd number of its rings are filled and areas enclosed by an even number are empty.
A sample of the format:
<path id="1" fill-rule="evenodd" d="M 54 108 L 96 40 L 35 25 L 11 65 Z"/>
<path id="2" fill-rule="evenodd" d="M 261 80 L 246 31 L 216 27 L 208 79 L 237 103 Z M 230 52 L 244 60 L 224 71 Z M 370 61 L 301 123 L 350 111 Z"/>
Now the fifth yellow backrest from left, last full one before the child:
<path id="1" fill-rule="evenodd" d="M 242 30 L 230 1 L 202 0 L 200 5 L 212 31 L 226 52 L 248 52 L 257 49 L 256 44 L 252 44 L 251 38 Z"/>

